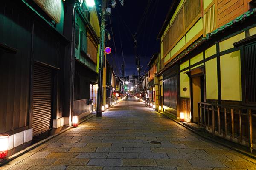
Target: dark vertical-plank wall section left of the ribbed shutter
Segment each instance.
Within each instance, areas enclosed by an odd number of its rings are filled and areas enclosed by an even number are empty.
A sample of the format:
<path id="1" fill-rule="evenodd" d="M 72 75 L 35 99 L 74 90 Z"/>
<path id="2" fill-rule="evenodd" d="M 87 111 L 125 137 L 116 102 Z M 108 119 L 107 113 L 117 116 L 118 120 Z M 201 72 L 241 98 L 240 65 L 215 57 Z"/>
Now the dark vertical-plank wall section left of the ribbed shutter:
<path id="1" fill-rule="evenodd" d="M 28 125 L 32 24 L 12 6 L 0 6 L 0 43 L 17 54 L 0 51 L 0 133 Z"/>

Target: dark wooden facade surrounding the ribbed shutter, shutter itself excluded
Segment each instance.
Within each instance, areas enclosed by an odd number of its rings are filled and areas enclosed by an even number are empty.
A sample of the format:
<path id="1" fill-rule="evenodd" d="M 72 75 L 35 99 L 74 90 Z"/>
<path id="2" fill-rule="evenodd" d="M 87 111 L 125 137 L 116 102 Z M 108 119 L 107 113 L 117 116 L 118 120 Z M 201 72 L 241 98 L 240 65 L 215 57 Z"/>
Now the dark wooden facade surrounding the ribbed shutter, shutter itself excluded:
<path id="1" fill-rule="evenodd" d="M 41 17 L 32 11 L 41 13 Z M 51 121 L 63 116 L 64 11 L 56 24 L 34 2 L 0 6 L 0 134 L 32 128 L 35 63 L 51 70 Z"/>

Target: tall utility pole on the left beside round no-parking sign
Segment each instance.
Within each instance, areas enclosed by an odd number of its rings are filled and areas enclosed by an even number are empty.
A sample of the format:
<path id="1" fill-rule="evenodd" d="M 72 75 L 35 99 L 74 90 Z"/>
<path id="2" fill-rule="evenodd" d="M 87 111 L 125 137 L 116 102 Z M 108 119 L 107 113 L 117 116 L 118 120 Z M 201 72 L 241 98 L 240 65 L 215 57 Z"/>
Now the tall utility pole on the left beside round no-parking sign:
<path id="1" fill-rule="evenodd" d="M 103 92 L 103 55 L 104 55 L 104 44 L 105 44 L 105 28 L 106 28 L 106 6 L 107 0 L 102 0 L 102 17 L 101 17 L 101 42 L 100 42 L 100 50 L 99 50 L 99 80 L 98 80 L 98 93 L 97 93 L 97 108 L 96 108 L 96 116 L 102 116 L 102 92 Z"/>

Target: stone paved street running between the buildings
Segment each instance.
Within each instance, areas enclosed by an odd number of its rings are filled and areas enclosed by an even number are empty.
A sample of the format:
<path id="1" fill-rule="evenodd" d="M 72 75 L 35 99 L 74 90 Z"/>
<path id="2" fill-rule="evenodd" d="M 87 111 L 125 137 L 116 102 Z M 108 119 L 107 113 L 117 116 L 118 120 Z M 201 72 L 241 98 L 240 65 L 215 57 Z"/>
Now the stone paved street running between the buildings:
<path id="1" fill-rule="evenodd" d="M 254 170 L 255 163 L 254 159 L 195 135 L 142 102 L 129 100 L 0 169 Z"/>

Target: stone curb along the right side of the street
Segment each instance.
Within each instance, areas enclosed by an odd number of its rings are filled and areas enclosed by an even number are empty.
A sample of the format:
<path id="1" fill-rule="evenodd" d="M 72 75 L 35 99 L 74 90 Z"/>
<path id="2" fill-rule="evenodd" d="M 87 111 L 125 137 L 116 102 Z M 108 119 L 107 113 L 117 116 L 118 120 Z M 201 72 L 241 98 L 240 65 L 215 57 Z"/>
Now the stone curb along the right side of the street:
<path id="1" fill-rule="evenodd" d="M 253 153 L 249 153 L 249 152 L 247 152 L 247 151 L 245 151 L 245 150 L 242 150 L 242 149 L 239 149 L 239 148 L 236 148 L 236 147 L 232 147 L 232 146 L 230 146 L 230 145 L 228 145 L 228 144 L 224 144 L 224 143 L 219 142 L 219 141 L 217 141 L 217 140 L 215 140 L 215 139 L 213 139 L 213 138 L 211 138 L 211 137 L 209 137 L 209 136 L 204 136 L 203 134 L 201 134 L 201 133 L 199 133 L 199 132 L 193 130 L 192 128 L 189 128 L 189 127 L 183 125 L 183 123 L 181 123 L 181 122 L 179 122 L 179 121 L 177 121 L 177 120 L 175 120 L 175 119 L 173 119 L 173 118 L 171 118 L 171 117 L 165 115 L 164 113 L 161 113 L 160 111 L 157 111 L 157 110 L 155 110 L 155 109 L 154 109 L 154 111 L 156 111 L 156 112 L 162 114 L 163 116 L 165 116 L 165 117 L 171 119 L 172 121 L 174 121 L 174 122 L 176 122 L 177 124 L 179 124 L 179 125 L 185 127 L 186 129 L 192 131 L 193 133 L 197 134 L 198 136 L 203 137 L 204 139 L 207 139 L 207 140 L 209 140 L 209 141 L 212 141 L 212 142 L 215 142 L 215 143 L 217 143 L 217 144 L 220 144 L 220 145 L 222 145 L 222 146 L 224 146 L 224 147 L 227 147 L 227 148 L 229 148 L 229 149 L 231 149 L 231 150 L 235 150 L 236 152 L 239 152 L 239 153 L 241 153 L 241 154 L 243 154 L 243 155 L 245 155 L 245 156 L 248 156 L 248 157 L 250 157 L 250 158 L 252 158 L 252 159 L 256 159 L 256 155 L 254 155 Z M 250 160 L 248 160 L 248 161 L 250 161 Z"/>

